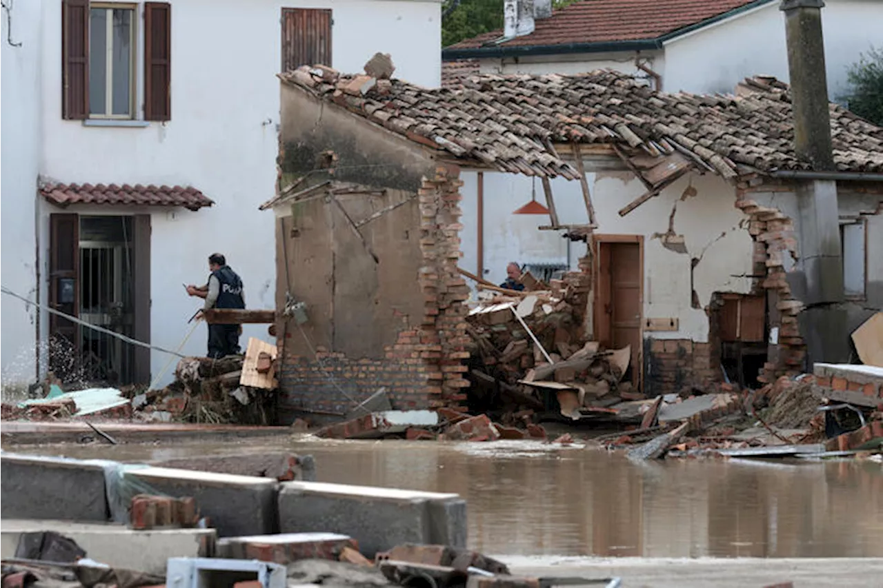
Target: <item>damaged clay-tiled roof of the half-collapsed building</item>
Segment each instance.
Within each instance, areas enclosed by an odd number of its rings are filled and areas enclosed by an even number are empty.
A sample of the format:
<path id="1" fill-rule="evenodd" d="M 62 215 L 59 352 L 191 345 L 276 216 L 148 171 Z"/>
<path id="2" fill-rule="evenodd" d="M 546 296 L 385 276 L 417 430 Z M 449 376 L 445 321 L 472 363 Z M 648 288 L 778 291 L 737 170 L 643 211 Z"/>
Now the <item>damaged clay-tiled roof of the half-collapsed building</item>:
<path id="1" fill-rule="evenodd" d="M 795 155 L 787 86 L 770 78 L 746 80 L 738 96 L 664 94 L 612 71 L 481 74 L 437 89 L 397 79 L 372 85 L 366 76 L 338 78 L 308 66 L 280 78 L 391 132 L 502 171 L 576 178 L 553 146 L 569 142 L 677 151 L 723 177 L 751 171 L 738 164 L 810 168 Z M 883 130 L 834 104 L 831 124 L 838 170 L 883 170 Z"/>

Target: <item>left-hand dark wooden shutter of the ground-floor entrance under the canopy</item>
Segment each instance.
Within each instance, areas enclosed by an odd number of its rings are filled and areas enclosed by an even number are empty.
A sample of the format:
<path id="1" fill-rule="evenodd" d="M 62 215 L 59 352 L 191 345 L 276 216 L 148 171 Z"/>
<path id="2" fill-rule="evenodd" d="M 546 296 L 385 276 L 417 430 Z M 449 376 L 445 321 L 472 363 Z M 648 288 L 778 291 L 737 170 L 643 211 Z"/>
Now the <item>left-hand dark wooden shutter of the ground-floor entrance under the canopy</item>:
<path id="1" fill-rule="evenodd" d="M 79 316 L 79 215 L 49 215 L 49 306 Z M 79 349 L 78 325 L 57 314 L 49 314 L 49 336 L 64 338 L 73 350 Z M 49 352 L 49 369 L 59 377 L 70 369 L 65 362 L 79 359 L 64 347 Z"/>

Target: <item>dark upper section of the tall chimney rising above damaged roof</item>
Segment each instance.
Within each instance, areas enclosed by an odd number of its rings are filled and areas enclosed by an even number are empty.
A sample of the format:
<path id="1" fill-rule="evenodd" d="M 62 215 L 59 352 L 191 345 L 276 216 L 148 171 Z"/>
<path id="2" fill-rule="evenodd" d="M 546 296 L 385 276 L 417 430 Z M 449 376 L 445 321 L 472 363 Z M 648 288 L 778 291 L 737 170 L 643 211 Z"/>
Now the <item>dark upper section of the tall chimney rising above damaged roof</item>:
<path id="1" fill-rule="evenodd" d="M 785 12 L 791 102 L 794 109 L 794 147 L 812 170 L 834 170 L 831 113 L 822 37 L 824 0 L 781 0 Z"/>

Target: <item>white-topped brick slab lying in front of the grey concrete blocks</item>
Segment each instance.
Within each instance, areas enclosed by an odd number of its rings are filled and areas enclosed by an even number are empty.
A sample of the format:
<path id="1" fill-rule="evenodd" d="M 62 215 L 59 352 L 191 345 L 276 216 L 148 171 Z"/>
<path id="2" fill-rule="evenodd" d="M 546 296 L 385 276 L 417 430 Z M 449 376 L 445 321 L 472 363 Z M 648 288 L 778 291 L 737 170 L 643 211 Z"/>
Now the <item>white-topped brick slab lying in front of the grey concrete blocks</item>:
<path id="1" fill-rule="evenodd" d="M 282 533 L 221 539 L 218 556 L 287 565 L 298 560 L 337 561 L 346 547 L 358 551 L 358 542 L 338 533 Z"/>

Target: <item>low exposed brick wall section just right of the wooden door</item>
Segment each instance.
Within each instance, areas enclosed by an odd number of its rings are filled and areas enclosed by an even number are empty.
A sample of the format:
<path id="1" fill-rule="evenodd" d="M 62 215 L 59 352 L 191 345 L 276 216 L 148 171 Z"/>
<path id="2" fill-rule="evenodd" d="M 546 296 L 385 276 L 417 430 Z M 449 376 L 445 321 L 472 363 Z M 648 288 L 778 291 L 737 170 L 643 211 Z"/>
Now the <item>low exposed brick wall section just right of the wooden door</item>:
<path id="1" fill-rule="evenodd" d="M 689 393 L 691 388 L 706 389 L 717 381 L 709 343 L 690 339 L 645 339 L 644 393 Z"/>

